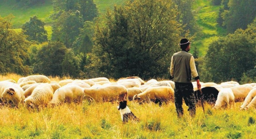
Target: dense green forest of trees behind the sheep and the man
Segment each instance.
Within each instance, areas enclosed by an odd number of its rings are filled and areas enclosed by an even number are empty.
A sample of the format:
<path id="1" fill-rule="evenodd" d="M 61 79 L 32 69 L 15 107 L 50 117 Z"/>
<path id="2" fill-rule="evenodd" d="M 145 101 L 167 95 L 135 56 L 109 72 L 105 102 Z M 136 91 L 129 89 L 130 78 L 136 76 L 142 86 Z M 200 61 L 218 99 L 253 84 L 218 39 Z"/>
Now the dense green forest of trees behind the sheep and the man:
<path id="1" fill-rule="evenodd" d="M 206 5 L 195 0 L 127 0 L 101 11 L 93 0 L 15 0 L 14 7 L 49 2 L 48 20 L 34 15 L 20 26 L 12 13 L 0 12 L 1 74 L 168 79 L 171 57 L 186 37 L 200 81 L 256 82 L 254 0 L 208 1 L 218 11 L 210 20 L 218 27 L 214 37 L 198 18 Z"/>

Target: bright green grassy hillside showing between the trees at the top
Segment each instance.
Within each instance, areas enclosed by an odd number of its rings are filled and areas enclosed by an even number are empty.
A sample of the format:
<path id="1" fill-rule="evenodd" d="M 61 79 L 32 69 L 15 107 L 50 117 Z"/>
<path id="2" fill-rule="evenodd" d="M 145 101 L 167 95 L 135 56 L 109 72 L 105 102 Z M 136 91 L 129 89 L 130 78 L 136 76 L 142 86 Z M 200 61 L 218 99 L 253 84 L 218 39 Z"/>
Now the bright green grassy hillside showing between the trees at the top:
<path id="1" fill-rule="evenodd" d="M 99 13 L 104 14 L 107 9 L 113 9 L 114 5 L 124 4 L 124 0 L 94 0 Z M 13 19 L 13 28 L 19 31 L 20 26 L 29 21 L 29 18 L 36 15 L 39 19 L 46 23 L 46 30 L 48 32 L 48 38 L 51 39 L 51 23 L 49 18 L 53 13 L 52 0 L 46 0 L 44 3 L 40 3 L 29 8 L 20 8 L 16 5 L 15 0 L 0 0 L 0 15 L 2 17 L 12 14 L 15 16 Z M 222 36 L 226 33 L 221 27 L 218 27 L 216 18 L 218 16 L 219 6 L 212 6 L 209 0 L 196 0 L 193 9 L 197 12 L 195 18 L 197 24 L 201 28 L 201 32 L 197 32 L 197 36 L 192 40 L 191 53 L 194 51 L 194 47 L 199 49 L 199 55 L 205 55 L 209 44 L 215 40 L 218 36 Z"/>

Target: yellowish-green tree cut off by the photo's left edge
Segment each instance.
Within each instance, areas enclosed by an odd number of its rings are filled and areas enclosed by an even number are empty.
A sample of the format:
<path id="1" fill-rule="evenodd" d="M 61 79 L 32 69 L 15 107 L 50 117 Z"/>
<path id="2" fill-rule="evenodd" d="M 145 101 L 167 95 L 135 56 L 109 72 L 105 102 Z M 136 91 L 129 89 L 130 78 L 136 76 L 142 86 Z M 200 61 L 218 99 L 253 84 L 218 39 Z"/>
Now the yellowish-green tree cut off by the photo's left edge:
<path id="1" fill-rule="evenodd" d="M 29 42 L 26 36 L 11 29 L 12 15 L 4 18 L 0 16 L 0 72 L 28 75 L 29 66 L 24 64 L 29 56 L 27 50 Z"/>

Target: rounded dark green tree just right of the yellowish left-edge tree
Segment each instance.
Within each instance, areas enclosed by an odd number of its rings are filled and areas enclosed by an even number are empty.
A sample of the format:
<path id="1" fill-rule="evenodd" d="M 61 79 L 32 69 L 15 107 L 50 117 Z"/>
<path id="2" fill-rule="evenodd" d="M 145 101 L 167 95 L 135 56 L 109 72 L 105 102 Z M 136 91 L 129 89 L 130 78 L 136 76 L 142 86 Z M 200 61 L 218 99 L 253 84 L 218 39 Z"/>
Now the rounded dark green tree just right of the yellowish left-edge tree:
<path id="1" fill-rule="evenodd" d="M 34 67 L 34 73 L 47 76 L 62 76 L 61 63 L 65 57 L 67 48 L 60 42 L 49 42 L 43 45 L 38 51 L 36 59 L 37 64 Z"/>

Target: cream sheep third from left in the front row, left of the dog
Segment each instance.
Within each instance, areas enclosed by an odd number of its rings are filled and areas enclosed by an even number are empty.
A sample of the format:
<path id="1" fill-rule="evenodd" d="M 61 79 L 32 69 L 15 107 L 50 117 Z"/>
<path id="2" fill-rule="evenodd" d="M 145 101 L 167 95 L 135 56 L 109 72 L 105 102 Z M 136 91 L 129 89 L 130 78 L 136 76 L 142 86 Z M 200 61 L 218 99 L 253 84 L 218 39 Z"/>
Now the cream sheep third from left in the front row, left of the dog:
<path id="1" fill-rule="evenodd" d="M 83 95 L 84 91 L 82 87 L 78 85 L 65 85 L 54 92 L 51 103 L 82 103 Z"/>

